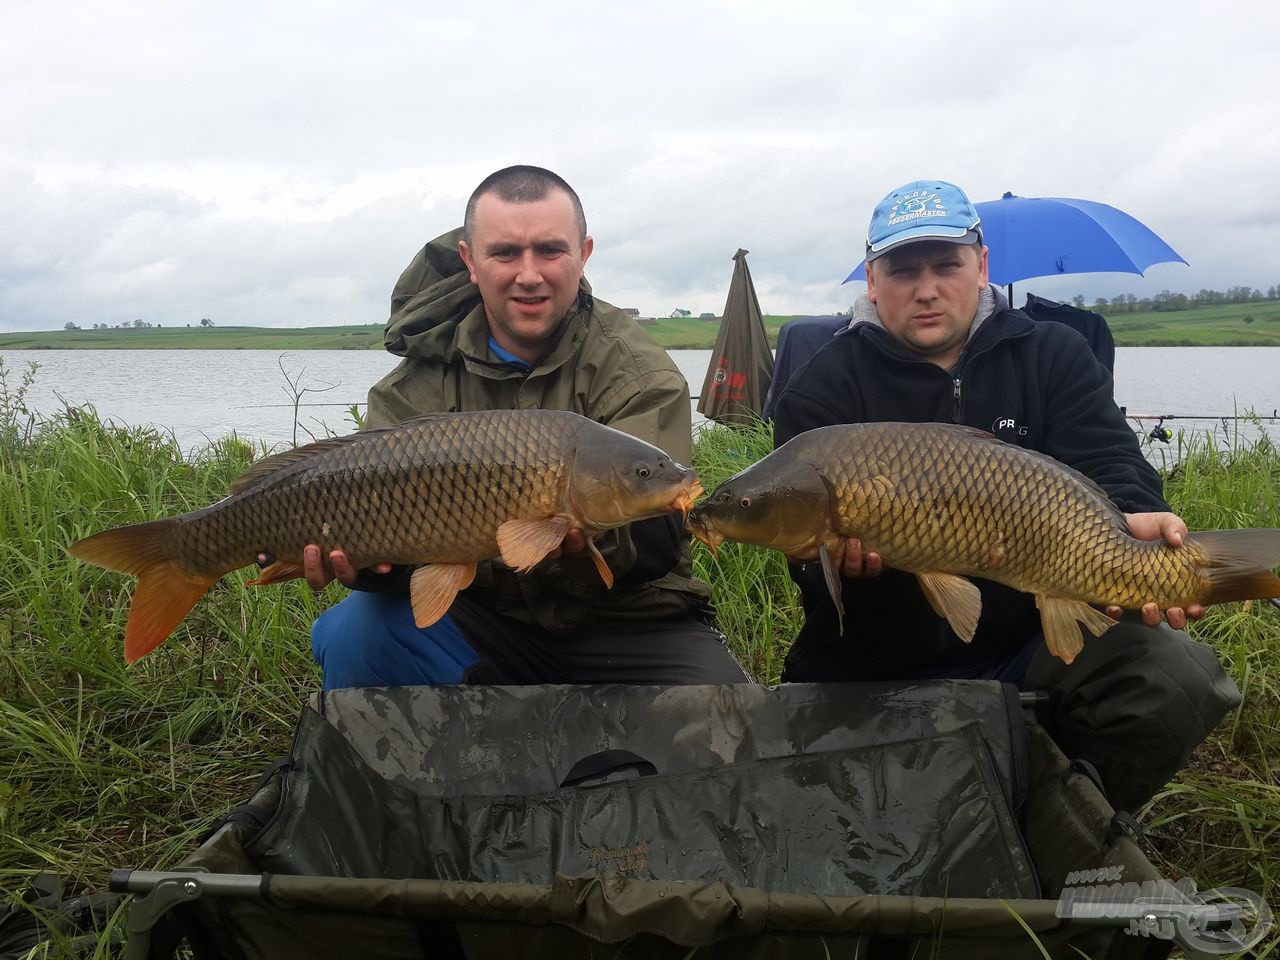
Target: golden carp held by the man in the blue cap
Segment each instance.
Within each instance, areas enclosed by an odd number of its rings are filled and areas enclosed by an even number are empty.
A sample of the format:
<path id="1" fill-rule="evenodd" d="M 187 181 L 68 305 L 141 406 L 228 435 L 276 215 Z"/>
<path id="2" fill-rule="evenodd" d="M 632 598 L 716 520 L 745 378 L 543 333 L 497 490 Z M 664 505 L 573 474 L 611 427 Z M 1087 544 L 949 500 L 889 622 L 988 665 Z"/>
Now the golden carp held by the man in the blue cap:
<path id="1" fill-rule="evenodd" d="M 982 613 L 966 576 L 1036 595 L 1048 649 L 1070 663 L 1078 623 L 1115 621 L 1089 604 L 1161 609 L 1280 596 L 1280 530 L 1197 532 L 1181 547 L 1137 540 L 1092 480 L 1053 458 L 950 424 L 854 424 L 795 436 L 721 484 L 689 515 L 718 547 L 737 540 L 820 559 L 844 617 L 831 550 L 858 538 L 916 575 L 965 641 Z M 842 621 L 841 621 L 842 622 Z"/>

